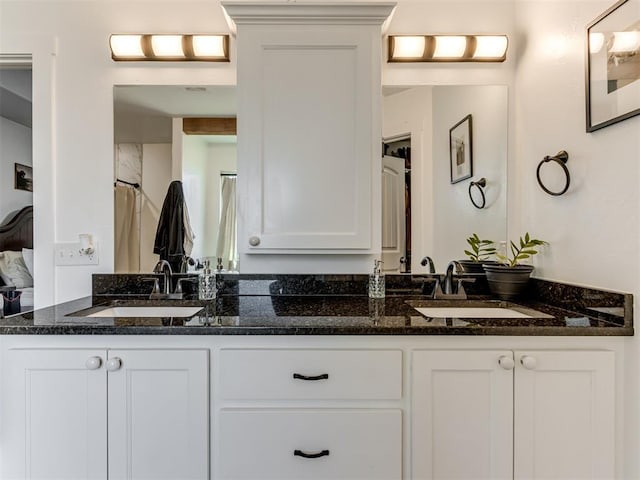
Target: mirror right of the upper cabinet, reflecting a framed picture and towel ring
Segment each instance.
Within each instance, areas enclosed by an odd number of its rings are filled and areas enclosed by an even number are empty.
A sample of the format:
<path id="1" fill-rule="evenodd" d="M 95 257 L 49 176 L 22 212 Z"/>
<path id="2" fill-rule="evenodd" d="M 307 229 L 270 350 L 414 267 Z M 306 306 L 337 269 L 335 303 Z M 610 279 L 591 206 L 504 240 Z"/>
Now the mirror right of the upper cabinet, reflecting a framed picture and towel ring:
<path id="1" fill-rule="evenodd" d="M 472 233 L 506 238 L 507 121 L 506 86 L 383 88 L 386 271 L 425 272 L 425 256 L 443 271 L 464 258 Z M 468 137 L 460 133 L 467 123 Z M 479 193 L 469 187 L 482 178 L 479 209 L 471 201 L 479 203 Z"/>

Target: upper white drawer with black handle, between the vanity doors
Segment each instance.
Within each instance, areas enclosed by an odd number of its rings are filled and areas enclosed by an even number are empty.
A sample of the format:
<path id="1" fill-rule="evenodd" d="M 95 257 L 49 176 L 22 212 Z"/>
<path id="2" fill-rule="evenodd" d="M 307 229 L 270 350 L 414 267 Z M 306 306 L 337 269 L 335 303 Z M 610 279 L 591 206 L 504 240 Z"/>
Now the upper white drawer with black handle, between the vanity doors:
<path id="1" fill-rule="evenodd" d="M 227 400 L 399 399 L 402 351 L 223 349 L 220 391 Z"/>

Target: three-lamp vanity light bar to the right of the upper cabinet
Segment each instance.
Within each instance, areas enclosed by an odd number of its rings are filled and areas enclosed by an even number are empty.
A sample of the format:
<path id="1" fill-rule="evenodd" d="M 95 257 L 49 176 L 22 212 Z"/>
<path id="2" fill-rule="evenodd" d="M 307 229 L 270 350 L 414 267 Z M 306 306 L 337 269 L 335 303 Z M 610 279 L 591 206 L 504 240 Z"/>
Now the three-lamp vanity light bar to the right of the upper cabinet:
<path id="1" fill-rule="evenodd" d="M 504 62 L 506 35 L 389 35 L 388 62 Z"/>

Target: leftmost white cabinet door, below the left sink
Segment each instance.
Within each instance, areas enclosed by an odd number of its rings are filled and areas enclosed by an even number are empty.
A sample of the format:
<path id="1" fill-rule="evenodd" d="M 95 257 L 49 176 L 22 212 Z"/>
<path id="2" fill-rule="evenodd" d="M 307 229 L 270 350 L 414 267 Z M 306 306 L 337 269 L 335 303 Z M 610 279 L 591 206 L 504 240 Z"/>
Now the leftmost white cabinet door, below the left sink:
<path id="1" fill-rule="evenodd" d="M 107 478 L 104 350 L 9 350 L 4 356 L 0 478 Z"/>

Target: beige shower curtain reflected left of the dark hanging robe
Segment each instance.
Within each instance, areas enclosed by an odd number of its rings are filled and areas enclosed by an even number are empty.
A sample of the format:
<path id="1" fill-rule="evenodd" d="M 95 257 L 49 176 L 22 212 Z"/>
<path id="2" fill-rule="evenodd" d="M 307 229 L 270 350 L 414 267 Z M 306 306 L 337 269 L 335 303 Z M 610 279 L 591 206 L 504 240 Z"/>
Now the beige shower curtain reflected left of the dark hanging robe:
<path id="1" fill-rule="evenodd" d="M 137 195 L 131 187 L 116 185 L 115 195 L 115 265 L 116 273 L 140 271 L 140 219 Z"/>

